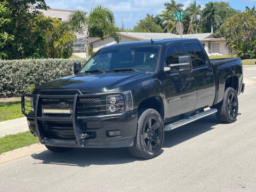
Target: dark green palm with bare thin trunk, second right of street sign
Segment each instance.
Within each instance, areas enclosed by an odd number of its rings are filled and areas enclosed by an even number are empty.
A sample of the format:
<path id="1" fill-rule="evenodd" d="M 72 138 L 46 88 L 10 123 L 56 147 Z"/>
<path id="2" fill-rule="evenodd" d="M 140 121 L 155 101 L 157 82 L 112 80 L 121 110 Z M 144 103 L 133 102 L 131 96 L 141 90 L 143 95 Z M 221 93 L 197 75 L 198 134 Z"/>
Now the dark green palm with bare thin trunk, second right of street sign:
<path id="1" fill-rule="evenodd" d="M 202 13 L 204 22 L 210 23 L 211 33 L 213 33 L 213 23 L 219 19 L 219 15 L 215 12 L 215 6 L 212 2 L 206 3 Z"/>

